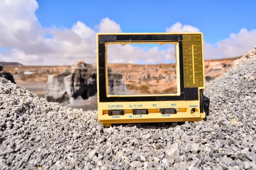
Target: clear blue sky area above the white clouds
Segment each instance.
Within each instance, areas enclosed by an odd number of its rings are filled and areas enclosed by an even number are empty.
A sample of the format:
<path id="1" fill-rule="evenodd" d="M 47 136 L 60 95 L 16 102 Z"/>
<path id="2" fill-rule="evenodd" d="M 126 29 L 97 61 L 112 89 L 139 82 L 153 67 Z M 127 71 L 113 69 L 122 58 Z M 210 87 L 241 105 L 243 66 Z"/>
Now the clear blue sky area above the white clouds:
<path id="1" fill-rule="evenodd" d="M 256 28 L 256 0 L 38 0 L 43 27 L 71 28 L 80 20 L 94 28 L 102 18 L 120 24 L 123 32 L 165 32 L 176 22 L 197 27 L 215 43 Z"/>

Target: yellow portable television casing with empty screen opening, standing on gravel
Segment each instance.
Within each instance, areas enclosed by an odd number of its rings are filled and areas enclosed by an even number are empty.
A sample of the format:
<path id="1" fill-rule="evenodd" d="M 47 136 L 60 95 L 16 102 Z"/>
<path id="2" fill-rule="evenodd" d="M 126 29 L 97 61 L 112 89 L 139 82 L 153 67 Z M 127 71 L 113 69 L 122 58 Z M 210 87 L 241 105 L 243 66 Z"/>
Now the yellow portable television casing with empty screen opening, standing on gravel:
<path id="1" fill-rule="evenodd" d="M 98 119 L 104 126 L 205 118 L 202 33 L 98 33 L 96 40 Z M 177 94 L 108 94 L 108 44 L 129 43 L 175 44 Z"/>

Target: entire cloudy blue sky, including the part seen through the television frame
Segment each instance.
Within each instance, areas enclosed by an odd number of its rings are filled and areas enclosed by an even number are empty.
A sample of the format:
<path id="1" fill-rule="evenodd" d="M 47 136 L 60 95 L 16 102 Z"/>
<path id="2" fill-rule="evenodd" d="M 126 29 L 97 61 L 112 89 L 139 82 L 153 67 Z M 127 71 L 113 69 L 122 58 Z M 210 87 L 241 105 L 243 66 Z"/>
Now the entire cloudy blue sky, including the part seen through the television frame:
<path id="1" fill-rule="evenodd" d="M 256 45 L 255 7 L 256 0 L 1 1 L 0 61 L 95 63 L 97 32 L 200 31 L 204 59 L 239 57 Z M 115 47 L 109 62 L 175 61 L 173 45 L 144 46 Z"/>

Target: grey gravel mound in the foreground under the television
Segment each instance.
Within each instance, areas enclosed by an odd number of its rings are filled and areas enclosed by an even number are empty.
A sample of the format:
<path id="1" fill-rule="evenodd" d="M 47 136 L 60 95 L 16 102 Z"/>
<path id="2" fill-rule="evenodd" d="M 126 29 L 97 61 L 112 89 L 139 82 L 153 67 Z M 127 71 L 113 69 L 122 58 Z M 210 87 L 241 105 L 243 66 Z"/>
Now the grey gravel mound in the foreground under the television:
<path id="1" fill-rule="evenodd" d="M 201 122 L 103 127 L 0 78 L 0 169 L 256 169 L 256 57 L 205 90 Z"/>

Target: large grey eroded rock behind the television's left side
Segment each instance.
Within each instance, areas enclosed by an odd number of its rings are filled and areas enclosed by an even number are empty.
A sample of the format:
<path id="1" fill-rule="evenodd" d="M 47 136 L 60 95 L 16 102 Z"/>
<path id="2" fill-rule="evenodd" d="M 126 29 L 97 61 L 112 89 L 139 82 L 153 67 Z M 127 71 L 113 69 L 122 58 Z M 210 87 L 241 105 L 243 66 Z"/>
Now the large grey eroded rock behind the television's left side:
<path id="1" fill-rule="evenodd" d="M 122 75 L 111 68 L 108 68 L 108 86 L 111 95 L 128 93 Z M 75 100 L 96 96 L 96 65 L 81 60 L 61 74 L 49 75 L 45 91 L 47 101 L 59 103 L 68 101 L 73 104 Z"/>

